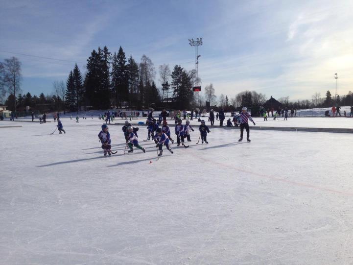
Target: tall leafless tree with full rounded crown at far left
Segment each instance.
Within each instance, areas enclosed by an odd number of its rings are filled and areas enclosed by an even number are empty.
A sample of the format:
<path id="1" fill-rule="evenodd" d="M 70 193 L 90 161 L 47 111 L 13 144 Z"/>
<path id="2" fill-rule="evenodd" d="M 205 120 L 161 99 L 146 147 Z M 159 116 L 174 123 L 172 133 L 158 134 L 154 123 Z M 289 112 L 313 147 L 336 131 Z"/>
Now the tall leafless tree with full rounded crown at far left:
<path id="1" fill-rule="evenodd" d="M 14 105 L 16 112 L 16 94 L 21 93 L 21 62 L 16 57 L 11 57 L 10 59 L 5 59 L 3 67 L 5 71 L 5 85 L 7 86 L 8 93 L 14 96 Z"/>

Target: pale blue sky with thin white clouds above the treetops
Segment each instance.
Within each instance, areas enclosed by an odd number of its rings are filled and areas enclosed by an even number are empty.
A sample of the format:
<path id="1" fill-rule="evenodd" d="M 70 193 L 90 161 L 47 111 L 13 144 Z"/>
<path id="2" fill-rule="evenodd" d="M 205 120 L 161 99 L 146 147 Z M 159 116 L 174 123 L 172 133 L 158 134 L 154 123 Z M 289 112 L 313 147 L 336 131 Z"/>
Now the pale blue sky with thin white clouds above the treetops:
<path id="1" fill-rule="evenodd" d="M 216 96 L 255 90 L 267 97 L 310 99 L 353 91 L 352 0 L 0 0 L 0 61 L 22 62 L 22 91 L 53 93 L 75 62 L 107 46 L 156 68 L 195 68 L 188 39 L 202 37 L 202 90 Z M 26 54 L 26 55 L 24 55 Z M 32 55 L 32 56 L 28 56 Z M 47 57 L 53 59 L 39 58 Z"/>

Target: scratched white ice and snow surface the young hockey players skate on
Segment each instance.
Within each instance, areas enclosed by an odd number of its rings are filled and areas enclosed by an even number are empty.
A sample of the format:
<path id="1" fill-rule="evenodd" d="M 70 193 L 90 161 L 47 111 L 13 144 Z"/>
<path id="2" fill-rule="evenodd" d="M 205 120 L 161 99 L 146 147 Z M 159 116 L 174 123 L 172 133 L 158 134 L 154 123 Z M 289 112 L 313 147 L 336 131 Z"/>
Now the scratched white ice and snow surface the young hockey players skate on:
<path id="1" fill-rule="evenodd" d="M 0 264 L 353 263 L 351 134 L 252 130 L 239 144 L 210 128 L 195 145 L 195 130 L 157 161 L 143 126 L 146 153 L 123 155 L 111 125 L 118 153 L 103 157 L 101 121 L 62 123 L 0 122 L 22 125 L 0 128 Z"/>

